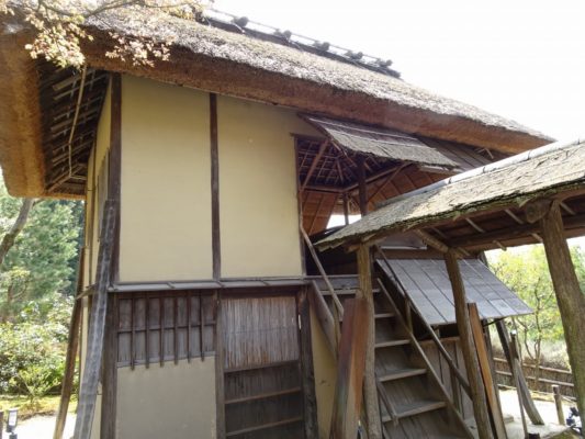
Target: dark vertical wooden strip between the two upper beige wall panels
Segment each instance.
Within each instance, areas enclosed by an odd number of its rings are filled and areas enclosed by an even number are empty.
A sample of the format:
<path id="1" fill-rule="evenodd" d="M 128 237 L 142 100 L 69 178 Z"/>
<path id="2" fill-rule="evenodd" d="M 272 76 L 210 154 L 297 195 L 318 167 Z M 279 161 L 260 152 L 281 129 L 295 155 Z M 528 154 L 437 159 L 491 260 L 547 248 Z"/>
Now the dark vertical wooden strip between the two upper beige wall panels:
<path id="1" fill-rule="evenodd" d="M 220 237 L 220 146 L 217 134 L 217 95 L 210 93 L 211 145 L 211 224 L 213 279 L 222 277 L 222 241 Z"/>

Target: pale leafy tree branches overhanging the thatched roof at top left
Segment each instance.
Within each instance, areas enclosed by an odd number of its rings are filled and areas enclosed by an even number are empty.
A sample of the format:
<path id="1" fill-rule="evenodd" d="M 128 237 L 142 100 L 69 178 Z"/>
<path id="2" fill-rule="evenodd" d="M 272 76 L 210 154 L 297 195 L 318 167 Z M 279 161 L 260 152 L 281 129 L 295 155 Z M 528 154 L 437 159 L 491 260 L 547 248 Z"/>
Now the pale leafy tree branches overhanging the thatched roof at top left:
<path id="1" fill-rule="evenodd" d="M 80 44 L 92 41 L 83 25 L 88 20 L 106 21 L 109 13 L 116 11 L 124 14 L 125 22 L 137 33 L 133 36 L 110 33 L 114 48 L 105 55 L 153 66 L 154 59 L 169 58 L 169 45 L 173 42 L 154 41 L 139 30 L 149 29 L 169 15 L 192 19 L 206 4 L 206 0 L 20 0 L 18 11 L 36 31 L 26 45 L 33 58 L 43 56 L 61 67 L 82 66 L 86 58 Z M 0 14 L 15 12 L 9 0 L 0 0 Z"/>

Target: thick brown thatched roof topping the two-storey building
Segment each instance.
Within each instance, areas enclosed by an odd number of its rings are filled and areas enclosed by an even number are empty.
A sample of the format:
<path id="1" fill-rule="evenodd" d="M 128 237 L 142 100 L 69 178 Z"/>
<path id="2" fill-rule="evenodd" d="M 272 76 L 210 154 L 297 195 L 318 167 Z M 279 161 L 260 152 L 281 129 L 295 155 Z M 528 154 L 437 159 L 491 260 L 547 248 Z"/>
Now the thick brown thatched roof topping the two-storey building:
<path id="1" fill-rule="evenodd" d="M 550 138 L 473 105 L 439 97 L 380 69 L 322 56 L 299 44 L 168 18 L 133 29 L 124 13 L 88 24 L 85 53 L 92 69 L 126 72 L 217 93 L 259 100 L 500 151 L 520 151 Z M 24 50 L 31 31 L 19 18 L 0 18 L 0 165 L 14 195 L 47 195 L 41 147 L 44 109 L 35 63 Z M 170 61 L 155 68 L 105 56 L 110 32 L 173 40 Z M 374 71 L 375 70 L 375 71 Z M 53 193 L 55 195 L 55 193 Z"/>

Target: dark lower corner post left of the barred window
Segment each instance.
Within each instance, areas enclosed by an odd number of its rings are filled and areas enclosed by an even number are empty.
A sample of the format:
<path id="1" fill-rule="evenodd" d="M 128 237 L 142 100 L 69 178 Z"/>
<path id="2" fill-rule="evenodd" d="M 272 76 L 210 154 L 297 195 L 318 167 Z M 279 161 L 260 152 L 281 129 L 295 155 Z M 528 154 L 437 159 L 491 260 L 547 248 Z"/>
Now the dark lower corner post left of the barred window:
<path id="1" fill-rule="evenodd" d="M 108 311 L 102 369 L 100 439 L 115 438 L 117 393 L 117 335 L 115 326 L 117 322 L 117 303 L 114 294 L 108 295 Z"/>

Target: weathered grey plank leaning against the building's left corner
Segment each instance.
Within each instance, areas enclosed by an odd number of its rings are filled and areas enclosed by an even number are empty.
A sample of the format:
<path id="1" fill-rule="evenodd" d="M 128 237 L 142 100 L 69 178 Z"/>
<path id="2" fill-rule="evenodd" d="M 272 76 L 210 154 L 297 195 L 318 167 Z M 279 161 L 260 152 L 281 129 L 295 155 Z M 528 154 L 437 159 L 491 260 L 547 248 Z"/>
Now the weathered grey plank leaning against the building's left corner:
<path id="1" fill-rule="evenodd" d="M 95 294 L 93 294 L 91 301 L 86 368 L 81 379 L 79 403 L 77 406 L 77 418 L 74 434 L 76 439 L 90 439 L 93 416 L 95 414 L 98 382 L 103 357 L 103 339 L 108 311 L 108 286 L 111 281 L 110 270 L 113 254 L 116 210 L 117 203 L 115 201 L 105 201 L 101 227 L 102 239 L 98 255 Z"/>

